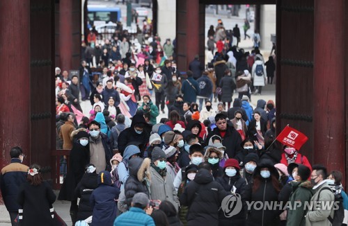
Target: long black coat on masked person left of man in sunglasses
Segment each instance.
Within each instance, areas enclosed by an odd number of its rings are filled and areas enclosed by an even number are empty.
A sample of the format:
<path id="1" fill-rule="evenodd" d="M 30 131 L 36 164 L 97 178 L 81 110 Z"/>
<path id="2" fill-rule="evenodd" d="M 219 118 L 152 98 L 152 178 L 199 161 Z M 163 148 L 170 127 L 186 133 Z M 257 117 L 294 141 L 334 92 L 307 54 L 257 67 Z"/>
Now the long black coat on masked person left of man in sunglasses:
<path id="1" fill-rule="evenodd" d="M 74 142 L 70 150 L 69 170 L 61 186 L 58 200 L 72 200 L 74 190 L 84 175 L 88 163 L 89 145 L 81 146 L 78 142 Z"/>

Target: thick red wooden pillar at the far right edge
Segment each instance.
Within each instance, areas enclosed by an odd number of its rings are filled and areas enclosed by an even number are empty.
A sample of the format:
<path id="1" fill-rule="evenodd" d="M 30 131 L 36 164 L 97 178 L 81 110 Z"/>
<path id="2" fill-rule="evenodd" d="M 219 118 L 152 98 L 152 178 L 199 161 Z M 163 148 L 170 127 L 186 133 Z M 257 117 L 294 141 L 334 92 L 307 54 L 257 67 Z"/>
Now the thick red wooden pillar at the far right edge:
<path id="1" fill-rule="evenodd" d="M 342 173 L 345 173 L 344 15 L 344 0 L 315 1 L 313 159 L 329 171 Z"/>

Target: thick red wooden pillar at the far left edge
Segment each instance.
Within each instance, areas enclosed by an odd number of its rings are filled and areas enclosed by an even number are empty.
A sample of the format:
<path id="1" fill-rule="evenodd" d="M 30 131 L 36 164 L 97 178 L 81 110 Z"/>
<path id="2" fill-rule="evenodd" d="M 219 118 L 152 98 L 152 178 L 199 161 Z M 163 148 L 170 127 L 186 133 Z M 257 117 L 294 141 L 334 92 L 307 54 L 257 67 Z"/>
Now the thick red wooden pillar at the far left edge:
<path id="1" fill-rule="evenodd" d="M 0 1 L 0 167 L 21 146 L 30 162 L 30 1 Z M 19 51 L 20 49 L 20 51 Z"/>

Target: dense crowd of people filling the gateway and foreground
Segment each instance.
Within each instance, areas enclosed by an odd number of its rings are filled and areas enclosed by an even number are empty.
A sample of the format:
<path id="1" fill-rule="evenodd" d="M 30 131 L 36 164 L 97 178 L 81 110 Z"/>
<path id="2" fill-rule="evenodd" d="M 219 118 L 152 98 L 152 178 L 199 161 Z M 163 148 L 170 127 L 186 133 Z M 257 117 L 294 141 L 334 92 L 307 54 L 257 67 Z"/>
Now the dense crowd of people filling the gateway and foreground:
<path id="1" fill-rule="evenodd" d="M 331 225 L 333 209 L 248 209 L 246 202 L 338 195 L 348 210 L 342 173 L 311 166 L 300 150 L 276 141 L 274 101 L 260 99 L 255 109 L 250 103 L 251 91 L 261 94 L 271 82 L 273 58 L 264 63 L 258 46 L 244 53 L 220 38 L 222 21 L 211 29 L 209 37 L 219 38 L 208 43 L 217 51 L 207 70 L 197 55 L 182 73 L 175 42 L 162 46 L 156 36 L 129 43 L 125 31 L 103 44 L 90 40 L 78 76 L 56 68 L 56 146 L 71 150 L 68 169 L 61 158 L 58 200 L 71 202 L 73 225 Z M 90 101 L 87 116 L 81 101 Z M 10 157 L 1 193 L 11 221 L 54 225 L 56 195 L 40 166 L 22 164 L 19 147 Z M 231 194 L 242 197 L 243 208 L 228 217 L 221 203 Z"/>

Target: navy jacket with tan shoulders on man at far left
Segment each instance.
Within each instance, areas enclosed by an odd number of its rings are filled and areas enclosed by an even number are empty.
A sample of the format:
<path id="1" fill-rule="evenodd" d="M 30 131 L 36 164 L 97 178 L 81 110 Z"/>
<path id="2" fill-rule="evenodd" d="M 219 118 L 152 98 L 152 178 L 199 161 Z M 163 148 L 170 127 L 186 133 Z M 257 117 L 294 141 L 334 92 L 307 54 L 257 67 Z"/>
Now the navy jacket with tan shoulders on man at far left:
<path id="1" fill-rule="evenodd" d="M 20 159 L 11 159 L 11 163 L 1 169 L 1 195 L 8 211 L 18 211 L 19 187 L 26 181 L 28 174 L 29 167 L 20 162 Z"/>

